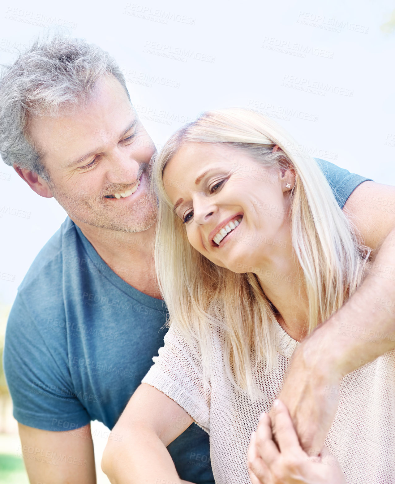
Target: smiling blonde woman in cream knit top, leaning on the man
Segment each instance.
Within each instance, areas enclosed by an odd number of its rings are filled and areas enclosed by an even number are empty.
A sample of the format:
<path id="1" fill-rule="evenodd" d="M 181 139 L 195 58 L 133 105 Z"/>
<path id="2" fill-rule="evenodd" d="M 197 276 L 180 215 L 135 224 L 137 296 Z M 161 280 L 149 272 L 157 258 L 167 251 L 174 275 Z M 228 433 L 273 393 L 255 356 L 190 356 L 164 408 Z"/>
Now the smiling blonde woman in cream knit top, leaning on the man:
<path id="1" fill-rule="evenodd" d="M 395 482 L 394 351 L 342 379 L 318 459 L 301 449 L 281 402 L 277 445 L 261 415 L 299 342 L 369 264 L 316 162 L 292 146 L 273 121 L 226 109 L 179 130 L 156 157 L 155 264 L 170 329 L 125 417 L 150 454 L 136 446 L 117 462 L 124 482 L 181 482 L 164 446 L 193 421 L 210 433 L 216 483 Z"/>

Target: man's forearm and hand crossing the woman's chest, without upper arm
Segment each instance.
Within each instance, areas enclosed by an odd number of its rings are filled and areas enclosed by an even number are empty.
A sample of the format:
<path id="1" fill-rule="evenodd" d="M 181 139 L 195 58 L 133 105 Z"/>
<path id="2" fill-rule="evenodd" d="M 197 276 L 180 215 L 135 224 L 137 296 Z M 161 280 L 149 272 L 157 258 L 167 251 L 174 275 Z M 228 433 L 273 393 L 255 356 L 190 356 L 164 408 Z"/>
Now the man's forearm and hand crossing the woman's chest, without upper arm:
<path id="1" fill-rule="evenodd" d="M 349 300 L 292 356 L 278 396 L 289 408 L 303 449 L 320 452 L 341 379 L 395 348 L 395 229 L 384 239 Z M 328 394 L 329 392 L 329 394 Z"/>

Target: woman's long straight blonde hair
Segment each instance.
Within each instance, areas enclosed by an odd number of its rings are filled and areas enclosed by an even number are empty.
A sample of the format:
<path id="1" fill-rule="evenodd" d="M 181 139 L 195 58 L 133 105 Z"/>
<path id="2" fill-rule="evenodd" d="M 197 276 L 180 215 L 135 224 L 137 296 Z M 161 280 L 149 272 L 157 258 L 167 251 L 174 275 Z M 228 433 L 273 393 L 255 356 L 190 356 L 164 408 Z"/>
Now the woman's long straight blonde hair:
<path id="1" fill-rule="evenodd" d="M 177 324 L 190 341 L 198 339 L 205 378 L 213 327 L 220 327 L 228 378 L 255 398 L 261 396 L 253 380 L 258 362 L 265 362 L 266 372 L 276 364 L 273 305 L 254 272 L 216 266 L 188 242 L 163 182 L 165 166 L 187 142 L 232 146 L 265 168 L 293 168 L 289 216 L 293 249 L 304 273 L 308 333 L 333 315 L 361 283 L 370 249 L 359 241 L 317 162 L 292 149 L 293 138 L 258 113 L 241 108 L 206 112 L 178 130 L 157 153 L 152 166 L 152 189 L 159 201 L 155 269 L 168 324 Z M 281 150 L 273 152 L 274 145 Z"/>

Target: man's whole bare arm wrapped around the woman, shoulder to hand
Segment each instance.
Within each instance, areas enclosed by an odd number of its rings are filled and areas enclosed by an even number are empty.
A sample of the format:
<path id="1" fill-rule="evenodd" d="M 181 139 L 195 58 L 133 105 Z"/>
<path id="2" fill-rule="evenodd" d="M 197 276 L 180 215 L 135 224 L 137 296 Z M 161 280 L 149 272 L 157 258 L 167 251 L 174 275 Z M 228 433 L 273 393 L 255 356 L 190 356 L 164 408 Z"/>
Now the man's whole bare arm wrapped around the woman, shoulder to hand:
<path id="1" fill-rule="evenodd" d="M 373 250 L 373 261 L 351 298 L 297 348 L 278 396 L 309 454 L 320 452 L 331 427 L 341 378 L 395 348 L 395 187 L 365 181 L 343 210 Z"/>

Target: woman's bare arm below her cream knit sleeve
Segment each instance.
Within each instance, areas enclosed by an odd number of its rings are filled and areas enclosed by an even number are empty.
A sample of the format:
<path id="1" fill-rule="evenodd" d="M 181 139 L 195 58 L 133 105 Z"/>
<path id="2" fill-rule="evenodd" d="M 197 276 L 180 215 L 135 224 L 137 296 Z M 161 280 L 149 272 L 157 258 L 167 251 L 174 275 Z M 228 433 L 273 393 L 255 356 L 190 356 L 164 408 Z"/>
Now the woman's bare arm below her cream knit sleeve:
<path id="1" fill-rule="evenodd" d="M 188 484 L 178 477 L 166 447 L 192 422 L 174 400 L 142 383 L 112 430 L 122 440 L 108 439 L 103 471 L 112 484 Z"/>

